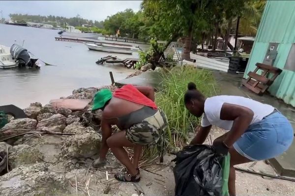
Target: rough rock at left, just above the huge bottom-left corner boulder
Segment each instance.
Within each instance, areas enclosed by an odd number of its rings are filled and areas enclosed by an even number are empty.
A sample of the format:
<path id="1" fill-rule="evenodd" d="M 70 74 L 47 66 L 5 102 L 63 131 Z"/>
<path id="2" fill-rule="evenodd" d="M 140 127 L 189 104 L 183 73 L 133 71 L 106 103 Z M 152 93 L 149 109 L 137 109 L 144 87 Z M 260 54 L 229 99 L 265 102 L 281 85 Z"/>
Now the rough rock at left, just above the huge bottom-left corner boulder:
<path id="1" fill-rule="evenodd" d="M 8 152 L 8 164 L 12 169 L 28 164 L 35 164 L 36 162 L 40 162 L 40 158 L 44 158 L 37 148 L 30 147 L 29 145 L 13 146 L 10 147 Z"/>

